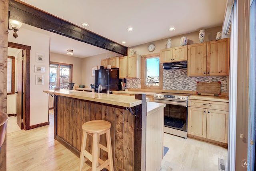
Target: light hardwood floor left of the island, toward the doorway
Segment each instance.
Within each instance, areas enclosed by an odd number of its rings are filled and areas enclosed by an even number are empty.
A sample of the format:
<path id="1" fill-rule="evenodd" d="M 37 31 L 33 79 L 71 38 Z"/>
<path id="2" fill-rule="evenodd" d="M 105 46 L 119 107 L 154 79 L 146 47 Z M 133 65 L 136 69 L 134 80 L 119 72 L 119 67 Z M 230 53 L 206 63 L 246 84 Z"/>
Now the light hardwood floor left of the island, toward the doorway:
<path id="1" fill-rule="evenodd" d="M 7 133 L 7 171 L 78 170 L 79 158 L 54 139 L 53 114 L 49 121 L 50 125 Z"/>

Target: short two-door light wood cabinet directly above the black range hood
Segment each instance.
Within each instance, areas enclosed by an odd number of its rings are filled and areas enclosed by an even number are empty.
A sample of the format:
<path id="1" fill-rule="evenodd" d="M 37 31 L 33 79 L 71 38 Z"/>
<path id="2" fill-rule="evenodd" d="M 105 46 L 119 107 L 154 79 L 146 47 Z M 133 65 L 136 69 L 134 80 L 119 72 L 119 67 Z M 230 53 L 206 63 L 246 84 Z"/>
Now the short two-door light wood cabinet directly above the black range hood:
<path id="1" fill-rule="evenodd" d="M 160 63 L 188 60 L 188 46 L 178 46 L 160 50 Z"/>

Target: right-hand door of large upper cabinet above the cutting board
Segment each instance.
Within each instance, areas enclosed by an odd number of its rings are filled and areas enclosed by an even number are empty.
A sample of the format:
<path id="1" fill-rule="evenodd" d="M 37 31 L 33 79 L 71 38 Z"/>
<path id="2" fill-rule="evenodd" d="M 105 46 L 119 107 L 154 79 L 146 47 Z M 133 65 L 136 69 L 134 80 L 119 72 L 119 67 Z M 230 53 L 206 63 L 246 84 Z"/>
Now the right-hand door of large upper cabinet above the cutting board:
<path id="1" fill-rule="evenodd" d="M 207 42 L 207 75 L 229 75 L 230 39 Z"/>

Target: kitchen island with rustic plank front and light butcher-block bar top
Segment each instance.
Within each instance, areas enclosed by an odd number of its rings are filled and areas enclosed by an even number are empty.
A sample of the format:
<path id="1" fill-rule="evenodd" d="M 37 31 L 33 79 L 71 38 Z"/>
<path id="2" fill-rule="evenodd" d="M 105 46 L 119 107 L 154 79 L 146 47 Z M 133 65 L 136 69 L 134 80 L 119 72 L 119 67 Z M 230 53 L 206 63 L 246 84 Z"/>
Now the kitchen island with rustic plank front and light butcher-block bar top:
<path id="1" fill-rule="evenodd" d="M 115 170 L 160 170 L 165 104 L 147 102 L 143 93 L 124 96 L 68 89 L 44 92 L 55 98 L 54 138 L 78 157 L 82 124 L 102 119 L 111 123 Z M 87 139 L 87 150 L 91 151 L 92 138 Z M 106 145 L 104 138 L 100 141 Z M 107 159 L 105 151 L 100 151 L 100 156 Z"/>

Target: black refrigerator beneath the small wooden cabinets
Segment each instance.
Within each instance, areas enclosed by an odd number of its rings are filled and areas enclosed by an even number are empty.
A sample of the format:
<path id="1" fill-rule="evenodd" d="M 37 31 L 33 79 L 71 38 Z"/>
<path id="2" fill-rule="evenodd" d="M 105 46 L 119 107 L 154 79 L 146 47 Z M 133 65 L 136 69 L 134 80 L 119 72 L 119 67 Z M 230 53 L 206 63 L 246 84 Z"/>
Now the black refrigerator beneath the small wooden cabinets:
<path id="1" fill-rule="evenodd" d="M 119 79 L 118 69 L 95 70 L 94 92 L 98 92 L 99 85 L 102 86 L 100 93 L 110 93 L 121 89 L 122 79 Z"/>

